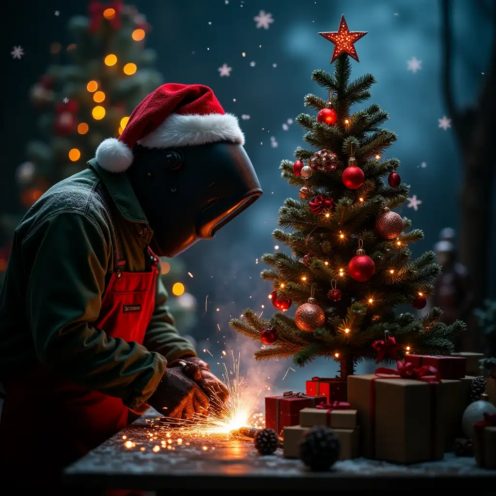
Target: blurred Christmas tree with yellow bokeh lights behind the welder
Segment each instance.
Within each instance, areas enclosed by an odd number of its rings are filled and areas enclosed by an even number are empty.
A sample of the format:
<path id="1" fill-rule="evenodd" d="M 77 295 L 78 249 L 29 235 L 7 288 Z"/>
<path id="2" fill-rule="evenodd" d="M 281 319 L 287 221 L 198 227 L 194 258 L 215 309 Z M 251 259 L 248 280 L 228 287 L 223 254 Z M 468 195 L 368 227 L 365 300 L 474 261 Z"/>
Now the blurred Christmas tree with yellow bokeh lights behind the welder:
<path id="1" fill-rule="evenodd" d="M 144 48 L 145 17 L 120 0 L 91 1 L 89 16 L 69 20 L 71 43 L 50 47 L 52 64 L 31 88 L 38 137 L 16 170 L 19 205 L 0 217 L 0 282 L 9 242 L 25 211 L 53 184 L 86 167 L 99 143 L 119 137 L 134 107 L 162 84 Z"/>

